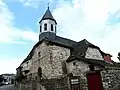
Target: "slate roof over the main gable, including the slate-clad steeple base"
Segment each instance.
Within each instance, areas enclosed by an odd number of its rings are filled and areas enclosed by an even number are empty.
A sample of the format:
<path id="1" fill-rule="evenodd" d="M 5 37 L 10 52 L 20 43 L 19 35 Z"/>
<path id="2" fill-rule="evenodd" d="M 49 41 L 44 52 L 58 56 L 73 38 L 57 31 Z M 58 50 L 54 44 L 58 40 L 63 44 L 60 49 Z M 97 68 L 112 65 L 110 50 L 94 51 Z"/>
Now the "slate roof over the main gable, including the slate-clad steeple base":
<path id="1" fill-rule="evenodd" d="M 27 62 L 28 60 L 30 60 L 32 58 L 35 48 L 38 45 L 40 45 L 40 43 L 42 43 L 43 41 L 48 41 L 48 42 L 51 42 L 51 43 L 54 43 L 54 44 L 57 44 L 60 46 L 64 46 L 67 48 L 72 48 L 72 45 L 77 43 L 76 41 L 57 36 L 55 33 L 51 33 L 51 32 L 41 33 L 39 36 L 39 42 L 33 46 L 33 49 L 31 50 L 29 55 L 26 57 L 26 59 L 24 59 L 24 61 L 22 63 Z"/>

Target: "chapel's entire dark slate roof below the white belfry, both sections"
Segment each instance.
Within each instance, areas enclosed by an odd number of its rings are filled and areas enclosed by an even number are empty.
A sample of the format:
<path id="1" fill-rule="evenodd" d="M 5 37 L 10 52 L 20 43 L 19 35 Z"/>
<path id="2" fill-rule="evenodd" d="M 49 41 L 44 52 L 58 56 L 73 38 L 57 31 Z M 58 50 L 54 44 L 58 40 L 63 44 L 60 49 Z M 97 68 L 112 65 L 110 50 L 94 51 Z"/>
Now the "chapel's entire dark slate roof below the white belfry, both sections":
<path id="1" fill-rule="evenodd" d="M 88 42 L 86 39 L 84 39 L 80 42 L 76 42 L 76 41 L 73 41 L 73 40 L 70 40 L 70 39 L 67 39 L 67 38 L 57 36 L 55 33 L 51 33 L 51 32 L 44 32 L 44 33 L 40 34 L 39 42 L 33 46 L 33 49 L 31 50 L 29 55 L 26 57 L 26 59 L 24 59 L 24 61 L 22 63 L 24 63 L 24 62 L 26 62 L 26 61 L 28 61 L 32 58 L 35 48 L 38 45 L 40 45 L 40 43 L 42 43 L 43 41 L 45 41 L 45 42 L 47 41 L 47 42 L 52 43 L 52 44 L 56 44 L 56 45 L 60 45 L 60 46 L 63 46 L 63 47 L 70 48 L 72 53 L 71 53 L 70 57 L 68 58 L 67 62 L 78 59 L 78 60 L 83 60 L 87 63 L 98 64 L 98 65 L 101 65 L 101 66 L 110 65 L 110 64 L 108 64 L 108 63 L 106 63 L 105 61 L 102 61 L 102 60 L 86 59 L 85 58 L 85 53 L 86 53 L 88 47 L 97 48 L 97 49 L 99 49 L 101 54 L 105 54 L 104 52 L 102 52 L 100 50 L 99 47 L 97 47 L 94 44 Z"/>

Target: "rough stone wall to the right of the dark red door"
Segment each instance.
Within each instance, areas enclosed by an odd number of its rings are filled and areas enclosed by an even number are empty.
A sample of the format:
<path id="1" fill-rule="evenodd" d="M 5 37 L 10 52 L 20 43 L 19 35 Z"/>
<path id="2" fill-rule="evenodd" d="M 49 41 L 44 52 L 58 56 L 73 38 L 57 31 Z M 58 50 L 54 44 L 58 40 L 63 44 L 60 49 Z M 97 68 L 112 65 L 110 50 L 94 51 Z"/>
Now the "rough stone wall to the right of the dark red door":
<path id="1" fill-rule="evenodd" d="M 101 76 L 104 90 L 120 90 L 120 68 L 107 67 Z"/>

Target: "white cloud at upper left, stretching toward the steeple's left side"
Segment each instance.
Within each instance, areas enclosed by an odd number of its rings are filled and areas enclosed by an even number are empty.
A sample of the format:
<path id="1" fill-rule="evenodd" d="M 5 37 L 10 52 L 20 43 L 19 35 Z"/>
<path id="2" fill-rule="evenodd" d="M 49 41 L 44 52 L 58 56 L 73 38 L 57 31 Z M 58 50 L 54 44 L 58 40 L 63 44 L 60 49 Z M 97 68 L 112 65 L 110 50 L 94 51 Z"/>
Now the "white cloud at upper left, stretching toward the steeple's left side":
<path id="1" fill-rule="evenodd" d="M 19 39 L 37 41 L 38 34 L 30 29 L 19 29 L 14 26 L 15 16 L 8 9 L 7 5 L 0 1 L 0 43 L 19 43 L 24 42 Z"/>

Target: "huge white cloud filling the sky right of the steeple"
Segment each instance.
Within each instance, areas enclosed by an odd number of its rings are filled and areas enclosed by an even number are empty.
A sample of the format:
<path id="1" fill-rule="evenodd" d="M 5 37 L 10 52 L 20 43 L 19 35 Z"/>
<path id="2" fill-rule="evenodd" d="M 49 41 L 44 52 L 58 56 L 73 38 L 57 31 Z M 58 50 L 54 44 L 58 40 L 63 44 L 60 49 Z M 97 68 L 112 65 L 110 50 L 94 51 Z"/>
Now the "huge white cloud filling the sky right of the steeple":
<path id="1" fill-rule="evenodd" d="M 53 11 L 58 34 L 77 41 L 86 38 L 118 61 L 120 23 L 108 25 L 108 19 L 120 10 L 119 3 L 119 0 L 72 0 L 72 4 L 61 1 Z"/>

